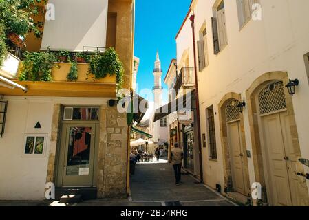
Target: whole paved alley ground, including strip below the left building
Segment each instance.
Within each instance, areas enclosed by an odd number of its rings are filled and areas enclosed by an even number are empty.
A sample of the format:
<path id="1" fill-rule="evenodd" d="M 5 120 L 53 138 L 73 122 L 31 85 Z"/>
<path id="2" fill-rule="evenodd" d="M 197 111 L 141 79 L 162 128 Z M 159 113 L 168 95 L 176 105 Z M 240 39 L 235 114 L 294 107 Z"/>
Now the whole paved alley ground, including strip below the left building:
<path id="1" fill-rule="evenodd" d="M 57 201 L 0 201 L 0 206 L 235 206 L 217 192 L 196 184 L 191 175 L 182 175 L 180 186 L 175 186 L 174 178 L 173 166 L 162 158 L 159 162 L 136 164 L 129 199 L 97 199 L 71 205 Z"/>

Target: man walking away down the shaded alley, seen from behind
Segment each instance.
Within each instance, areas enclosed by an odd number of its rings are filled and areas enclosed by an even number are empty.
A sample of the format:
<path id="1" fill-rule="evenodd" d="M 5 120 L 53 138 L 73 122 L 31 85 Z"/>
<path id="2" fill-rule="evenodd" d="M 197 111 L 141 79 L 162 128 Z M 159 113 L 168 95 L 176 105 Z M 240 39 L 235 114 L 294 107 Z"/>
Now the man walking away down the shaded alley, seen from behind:
<path id="1" fill-rule="evenodd" d="M 184 153 L 178 143 L 175 143 L 171 149 L 171 164 L 173 164 L 175 172 L 176 186 L 180 185 L 182 159 L 184 159 Z"/>

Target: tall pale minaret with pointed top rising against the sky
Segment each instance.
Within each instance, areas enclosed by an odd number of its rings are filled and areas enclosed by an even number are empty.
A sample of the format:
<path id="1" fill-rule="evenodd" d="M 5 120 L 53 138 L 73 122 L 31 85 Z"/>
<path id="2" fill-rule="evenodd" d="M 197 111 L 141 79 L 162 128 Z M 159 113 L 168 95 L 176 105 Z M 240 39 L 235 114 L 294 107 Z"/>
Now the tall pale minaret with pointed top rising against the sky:
<path id="1" fill-rule="evenodd" d="M 162 106 L 162 69 L 161 69 L 161 61 L 159 58 L 159 52 L 157 52 L 157 57 L 155 61 L 153 69 L 154 75 L 154 87 L 153 87 L 153 96 L 156 109 Z"/>

